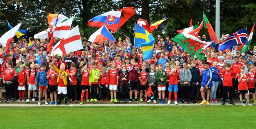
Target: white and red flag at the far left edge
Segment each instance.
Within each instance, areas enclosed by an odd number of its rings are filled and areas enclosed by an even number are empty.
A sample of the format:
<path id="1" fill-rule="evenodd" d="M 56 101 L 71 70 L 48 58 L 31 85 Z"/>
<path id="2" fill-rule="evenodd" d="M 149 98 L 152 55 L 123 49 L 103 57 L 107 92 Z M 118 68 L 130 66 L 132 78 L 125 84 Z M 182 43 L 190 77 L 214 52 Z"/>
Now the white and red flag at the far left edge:
<path id="1" fill-rule="evenodd" d="M 20 25 L 21 23 L 13 27 L 11 30 L 7 31 L 2 37 L 0 37 L 0 44 L 6 46 L 5 53 L 9 53 L 10 43 L 12 42 L 12 39 L 19 30 Z"/>

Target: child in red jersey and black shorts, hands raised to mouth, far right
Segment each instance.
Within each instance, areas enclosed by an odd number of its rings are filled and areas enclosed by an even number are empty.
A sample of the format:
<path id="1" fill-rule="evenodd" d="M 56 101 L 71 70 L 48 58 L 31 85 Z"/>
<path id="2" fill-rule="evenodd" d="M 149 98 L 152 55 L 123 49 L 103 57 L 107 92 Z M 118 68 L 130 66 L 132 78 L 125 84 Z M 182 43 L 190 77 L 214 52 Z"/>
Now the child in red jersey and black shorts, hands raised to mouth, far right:
<path id="1" fill-rule="evenodd" d="M 250 100 L 249 100 L 250 94 L 249 94 L 248 85 L 247 85 L 247 82 L 249 82 L 249 79 L 245 75 L 244 71 L 245 71 L 245 67 L 242 66 L 241 67 L 241 73 L 239 73 L 237 75 L 239 98 L 240 98 L 241 105 L 245 106 L 245 104 L 243 103 L 243 100 L 242 100 L 243 99 L 242 95 L 246 94 L 246 105 L 252 106 L 250 104 Z"/>

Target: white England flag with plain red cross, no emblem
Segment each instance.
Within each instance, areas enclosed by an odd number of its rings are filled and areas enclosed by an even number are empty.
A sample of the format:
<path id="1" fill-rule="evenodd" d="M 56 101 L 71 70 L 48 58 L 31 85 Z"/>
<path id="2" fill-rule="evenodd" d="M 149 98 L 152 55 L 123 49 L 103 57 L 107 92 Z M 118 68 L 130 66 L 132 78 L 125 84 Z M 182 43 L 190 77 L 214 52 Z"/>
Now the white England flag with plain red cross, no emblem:
<path id="1" fill-rule="evenodd" d="M 68 31 L 63 38 L 52 48 L 51 55 L 67 55 L 69 52 L 83 49 L 78 25 Z"/>

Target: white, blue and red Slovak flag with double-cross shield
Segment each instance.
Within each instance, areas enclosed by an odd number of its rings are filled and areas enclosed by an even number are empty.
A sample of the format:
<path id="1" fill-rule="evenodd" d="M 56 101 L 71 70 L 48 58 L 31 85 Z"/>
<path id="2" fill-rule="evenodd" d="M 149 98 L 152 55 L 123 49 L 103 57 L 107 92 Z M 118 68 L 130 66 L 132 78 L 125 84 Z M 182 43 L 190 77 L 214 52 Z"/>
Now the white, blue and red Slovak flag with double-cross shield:
<path id="1" fill-rule="evenodd" d="M 117 31 L 119 28 L 118 25 L 121 13 L 121 11 L 109 11 L 104 14 L 100 14 L 89 20 L 88 25 L 96 28 L 106 25 L 108 29 Z"/>

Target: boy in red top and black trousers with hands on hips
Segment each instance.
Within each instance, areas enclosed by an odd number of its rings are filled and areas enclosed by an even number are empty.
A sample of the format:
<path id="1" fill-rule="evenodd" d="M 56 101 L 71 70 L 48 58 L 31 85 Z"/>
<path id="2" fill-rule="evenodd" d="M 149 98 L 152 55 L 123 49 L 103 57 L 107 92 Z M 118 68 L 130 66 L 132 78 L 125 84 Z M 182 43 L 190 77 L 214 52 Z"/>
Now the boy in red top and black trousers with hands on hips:
<path id="1" fill-rule="evenodd" d="M 223 78 L 223 94 L 222 94 L 222 104 L 226 103 L 227 92 L 229 93 L 229 104 L 235 105 L 233 102 L 233 87 L 232 87 L 232 79 L 236 78 L 236 73 L 230 70 L 230 65 L 226 64 L 225 71 L 219 73 L 220 78 Z"/>

